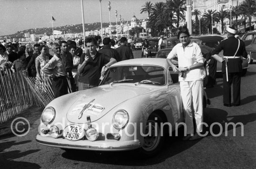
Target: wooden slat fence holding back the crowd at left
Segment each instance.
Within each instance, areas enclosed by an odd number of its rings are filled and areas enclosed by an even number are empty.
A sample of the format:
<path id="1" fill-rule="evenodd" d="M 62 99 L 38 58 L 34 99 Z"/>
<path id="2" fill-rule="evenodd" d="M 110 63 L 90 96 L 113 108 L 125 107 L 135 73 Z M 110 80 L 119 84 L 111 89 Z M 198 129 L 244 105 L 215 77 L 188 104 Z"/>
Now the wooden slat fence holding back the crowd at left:
<path id="1" fill-rule="evenodd" d="M 71 93 L 67 78 L 68 92 Z M 29 77 L 27 71 L 12 73 L 10 69 L 0 71 L 0 123 L 13 118 L 29 106 L 45 107 L 54 100 L 48 76 L 42 79 Z"/>

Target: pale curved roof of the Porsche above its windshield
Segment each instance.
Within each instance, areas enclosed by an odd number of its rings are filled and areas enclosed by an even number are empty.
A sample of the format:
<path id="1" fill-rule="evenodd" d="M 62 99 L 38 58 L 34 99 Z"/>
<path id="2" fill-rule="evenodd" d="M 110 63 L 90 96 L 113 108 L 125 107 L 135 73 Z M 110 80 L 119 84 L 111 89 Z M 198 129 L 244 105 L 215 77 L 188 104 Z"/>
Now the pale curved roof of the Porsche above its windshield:
<path id="1" fill-rule="evenodd" d="M 136 58 L 136 59 L 128 59 L 124 61 L 120 61 L 114 63 L 112 66 L 119 66 L 119 65 L 155 65 L 167 68 L 169 65 L 166 62 L 166 59 L 160 58 Z"/>

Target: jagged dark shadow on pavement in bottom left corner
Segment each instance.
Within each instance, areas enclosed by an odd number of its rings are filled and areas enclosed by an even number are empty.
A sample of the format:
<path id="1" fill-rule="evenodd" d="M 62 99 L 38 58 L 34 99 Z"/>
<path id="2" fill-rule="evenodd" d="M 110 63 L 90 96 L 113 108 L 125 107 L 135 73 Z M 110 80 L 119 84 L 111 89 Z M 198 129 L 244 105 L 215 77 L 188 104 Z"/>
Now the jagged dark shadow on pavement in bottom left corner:
<path id="1" fill-rule="evenodd" d="M 15 168 L 40 169 L 41 168 L 40 165 L 36 163 L 13 161 L 14 159 L 37 152 L 39 151 L 39 149 L 27 150 L 24 152 L 20 152 L 20 150 L 4 151 L 12 147 L 13 145 L 26 144 L 29 142 L 31 142 L 31 140 L 21 141 L 21 142 L 9 141 L 9 142 L 0 143 L 0 162 L 4 162 L 4 163 L 1 163 L 1 168 L 2 169 L 15 169 Z"/>

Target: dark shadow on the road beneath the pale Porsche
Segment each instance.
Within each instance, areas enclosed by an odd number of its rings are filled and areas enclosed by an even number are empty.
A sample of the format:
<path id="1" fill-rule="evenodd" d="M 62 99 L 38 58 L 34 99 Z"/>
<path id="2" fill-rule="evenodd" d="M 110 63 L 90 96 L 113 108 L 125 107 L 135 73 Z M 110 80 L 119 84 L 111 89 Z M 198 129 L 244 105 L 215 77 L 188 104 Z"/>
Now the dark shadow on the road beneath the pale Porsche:
<path id="1" fill-rule="evenodd" d="M 199 142 L 195 141 L 182 141 L 184 130 L 179 128 L 178 136 L 175 132 L 172 137 L 167 137 L 163 149 L 159 154 L 154 157 L 143 159 L 139 156 L 136 150 L 130 151 L 83 151 L 83 150 L 69 150 L 62 154 L 62 157 L 82 162 L 89 163 L 104 163 L 122 166 L 148 166 L 164 162 L 171 156 L 189 149 L 191 146 Z M 132 161 L 132 163 L 131 163 Z"/>

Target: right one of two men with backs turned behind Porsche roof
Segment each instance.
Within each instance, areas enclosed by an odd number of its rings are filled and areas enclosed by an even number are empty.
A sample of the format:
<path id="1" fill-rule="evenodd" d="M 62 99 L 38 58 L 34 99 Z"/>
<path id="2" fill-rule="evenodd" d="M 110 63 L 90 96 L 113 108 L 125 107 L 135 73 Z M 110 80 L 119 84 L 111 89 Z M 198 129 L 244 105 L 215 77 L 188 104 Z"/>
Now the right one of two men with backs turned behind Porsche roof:
<path id="1" fill-rule="evenodd" d="M 127 38 L 122 37 L 120 39 L 120 42 L 121 42 L 121 46 L 116 48 L 116 50 L 119 53 L 119 56 L 121 57 L 121 61 L 134 59 L 133 51 L 131 50 L 131 48 L 127 46 Z"/>

